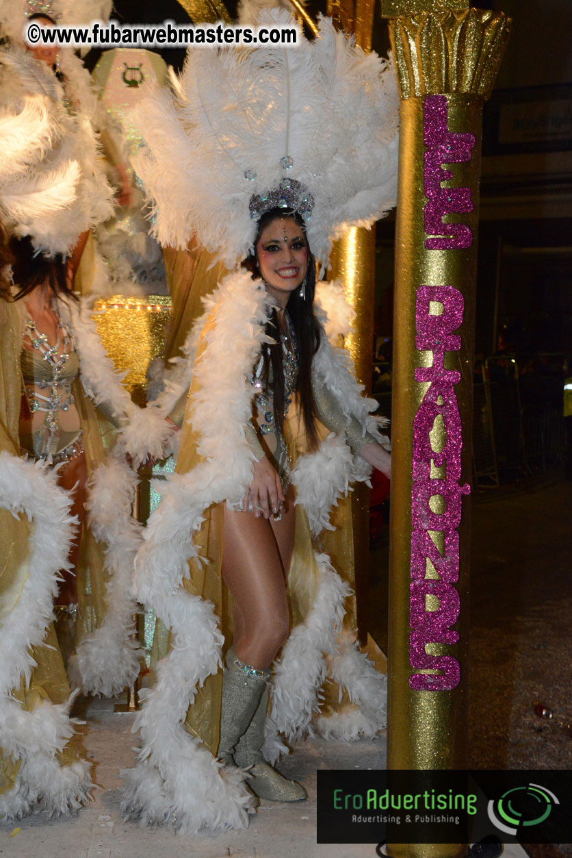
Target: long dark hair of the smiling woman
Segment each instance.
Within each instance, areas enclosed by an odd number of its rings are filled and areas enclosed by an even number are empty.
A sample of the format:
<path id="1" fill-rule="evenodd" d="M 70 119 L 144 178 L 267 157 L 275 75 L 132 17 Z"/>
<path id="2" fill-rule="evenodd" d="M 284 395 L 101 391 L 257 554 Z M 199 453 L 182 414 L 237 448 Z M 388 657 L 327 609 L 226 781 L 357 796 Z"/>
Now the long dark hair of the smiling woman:
<path id="1" fill-rule="evenodd" d="M 298 227 L 301 227 L 304 238 L 306 235 L 305 224 L 297 212 L 293 212 L 288 208 L 271 208 L 268 212 L 262 215 L 258 221 L 258 232 L 256 233 L 255 248 L 258 244 L 263 230 L 268 227 L 268 224 L 275 220 L 283 220 L 291 218 Z M 315 450 L 318 444 L 318 436 L 316 432 L 316 402 L 312 393 L 312 359 L 320 345 L 320 326 L 314 315 L 314 293 L 316 291 L 316 260 L 306 239 L 306 247 L 308 248 L 308 273 L 306 275 L 304 298 L 302 297 L 302 285 L 298 286 L 291 293 L 288 299 L 288 317 L 296 336 L 298 343 L 298 380 L 296 383 L 296 392 L 300 398 L 302 408 L 302 417 L 304 419 L 304 429 L 308 446 L 310 450 Z M 246 257 L 243 260 L 243 268 L 250 271 L 253 278 L 262 277 L 256 251 L 254 254 Z M 270 377 L 270 367 L 272 367 L 272 393 L 274 405 L 274 426 L 282 426 L 284 415 L 286 412 L 286 402 L 284 401 L 284 367 L 282 364 L 283 353 L 282 343 L 280 340 L 280 326 L 275 308 L 272 309 L 272 314 L 265 326 L 264 332 L 273 338 L 274 342 L 263 347 L 262 355 L 264 358 L 263 375 L 268 384 Z"/>

